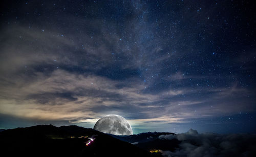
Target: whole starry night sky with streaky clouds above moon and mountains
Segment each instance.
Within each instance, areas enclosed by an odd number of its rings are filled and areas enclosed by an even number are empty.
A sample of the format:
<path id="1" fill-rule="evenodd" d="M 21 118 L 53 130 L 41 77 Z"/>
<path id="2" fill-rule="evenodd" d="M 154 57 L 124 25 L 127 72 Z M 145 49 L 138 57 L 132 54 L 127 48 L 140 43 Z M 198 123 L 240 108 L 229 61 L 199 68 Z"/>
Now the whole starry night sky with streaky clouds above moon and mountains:
<path id="1" fill-rule="evenodd" d="M 256 132 L 253 1 L 2 1 L 0 128 Z"/>

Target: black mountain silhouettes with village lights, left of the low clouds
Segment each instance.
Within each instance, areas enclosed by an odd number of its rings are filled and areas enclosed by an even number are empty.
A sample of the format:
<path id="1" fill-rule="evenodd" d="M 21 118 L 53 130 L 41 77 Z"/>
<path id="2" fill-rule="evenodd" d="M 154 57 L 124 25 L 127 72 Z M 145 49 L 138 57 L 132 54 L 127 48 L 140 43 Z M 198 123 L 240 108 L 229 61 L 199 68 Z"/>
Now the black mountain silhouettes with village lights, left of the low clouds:
<path id="1" fill-rule="evenodd" d="M 127 137 L 139 140 L 138 136 Z M 37 125 L 0 132 L 0 148 L 4 156 L 162 156 L 160 152 L 151 152 L 157 150 L 153 147 L 158 144 L 152 144 L 157 138 L 138 146 L 131 144 L 131 139 L 117 138 L 78 126 Z"/>

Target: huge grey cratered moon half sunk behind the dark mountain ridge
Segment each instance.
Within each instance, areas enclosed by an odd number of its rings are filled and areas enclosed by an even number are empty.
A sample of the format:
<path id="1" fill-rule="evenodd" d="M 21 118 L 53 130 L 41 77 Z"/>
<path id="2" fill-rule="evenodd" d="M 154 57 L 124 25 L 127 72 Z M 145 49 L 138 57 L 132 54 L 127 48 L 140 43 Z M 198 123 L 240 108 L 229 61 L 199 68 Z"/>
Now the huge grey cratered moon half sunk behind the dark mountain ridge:
<path id="1" fill-rule="evenodd" d="M 133 134 L 133 129 L 129 122 L 118 115 L 108 115 L 99 119 L 93 129 L 115 135 Z"/>

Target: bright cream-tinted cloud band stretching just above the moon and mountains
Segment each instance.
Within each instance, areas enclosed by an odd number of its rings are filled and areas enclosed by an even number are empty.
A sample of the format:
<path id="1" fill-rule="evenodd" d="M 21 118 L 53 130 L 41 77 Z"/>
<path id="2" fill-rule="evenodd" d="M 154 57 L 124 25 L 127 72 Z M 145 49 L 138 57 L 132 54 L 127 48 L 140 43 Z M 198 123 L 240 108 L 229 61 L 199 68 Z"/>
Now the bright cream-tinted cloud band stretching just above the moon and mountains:
<path id="1" fill-rule="evenodd" d="M 18 80 L 5 78 L 6 82 L 2 82 L 1 114 L 77 123 L 93 123 L 89 120 L 107 114 L 120 114 L 129 119 L 134 127 L 142 128 L 148 127 L 148 123 L 152 127 L 166 123 L 188 123 L 192 118 L 209 118 L 225 112 L 223 105 L 215 105 L 209 110 L 204 105 L 209 100 L 181 101 L 180 96 L 194 94 L 188 88 L 177 91 L 168 89 L 158 94 L 143 93 L 144 85 L 140 84 L 138 78 L 119 81 L 61 69 L 47 75 L 34 72 L 34 78 L 30 78 L 30 81 L 24 76 L 18 77 Z M 219 94 L 218 91 L 216 94 Z M 191 112 L 193 108 L 198 114 Z"/>

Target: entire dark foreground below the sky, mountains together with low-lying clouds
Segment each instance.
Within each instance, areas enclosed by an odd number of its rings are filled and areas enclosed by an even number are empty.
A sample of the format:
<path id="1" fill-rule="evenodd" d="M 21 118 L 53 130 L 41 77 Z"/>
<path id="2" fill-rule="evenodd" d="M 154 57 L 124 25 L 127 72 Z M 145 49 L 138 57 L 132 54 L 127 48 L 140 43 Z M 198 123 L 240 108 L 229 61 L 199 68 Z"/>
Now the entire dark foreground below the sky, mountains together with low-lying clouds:
<path id="1" fill-rule="evenodd" d="M 145 132 L 115 136 L 78 126 L 0 131 L 1 156 L 256 156 L 256 134 Z"/>

